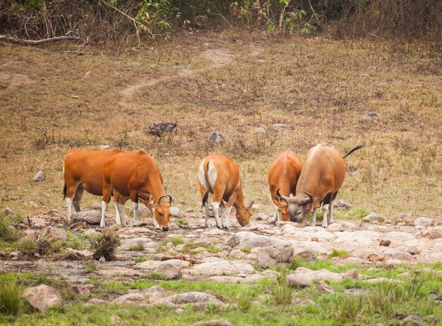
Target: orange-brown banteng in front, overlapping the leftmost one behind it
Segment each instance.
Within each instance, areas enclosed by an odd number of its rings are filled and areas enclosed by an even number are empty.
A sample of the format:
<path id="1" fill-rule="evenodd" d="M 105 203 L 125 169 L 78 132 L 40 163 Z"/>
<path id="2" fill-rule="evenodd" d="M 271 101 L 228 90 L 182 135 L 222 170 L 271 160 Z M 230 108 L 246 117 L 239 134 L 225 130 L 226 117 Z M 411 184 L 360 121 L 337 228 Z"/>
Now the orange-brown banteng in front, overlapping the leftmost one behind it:
<path id="1" fill-rule="evenodd" d="M 162 231 L 169 230 L 169 208 L 172 197 L 165 195 L 162 188 L 162 175 L 157 164 L 145 152 L 121 152 L 110 157 L 104 162 L 103 169 L 103 201 L 102 219 L 100 226 L 104 227 L 104 217 L 107 203 L 109 203 L 112 190 L 119 193 L 117 210 L 121 225 L 126 226 L 124 219 L 124 203 L 131 199 L 133 207 L 133 224 L 137 224 L 138 200 L 149 203 L 153 198 L 153 222 L 155 227 Z M 166 201 L 165 199 L 169 200 Z"/>

